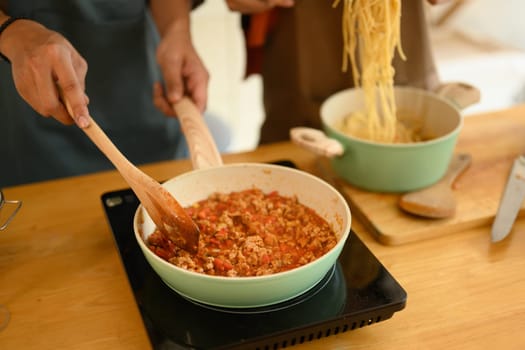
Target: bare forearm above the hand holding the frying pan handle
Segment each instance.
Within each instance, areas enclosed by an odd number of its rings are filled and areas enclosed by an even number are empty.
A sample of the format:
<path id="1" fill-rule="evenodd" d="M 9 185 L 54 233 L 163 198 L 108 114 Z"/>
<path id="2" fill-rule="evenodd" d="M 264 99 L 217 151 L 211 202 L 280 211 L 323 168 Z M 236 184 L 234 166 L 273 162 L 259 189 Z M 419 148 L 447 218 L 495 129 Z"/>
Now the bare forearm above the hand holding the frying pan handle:
<path id="1" fill-rule="evenodd" d="M 164 36 L 172 26 L 190 28 L 191 0 L 151 0 L 151 14 L 159 33 Z"/>

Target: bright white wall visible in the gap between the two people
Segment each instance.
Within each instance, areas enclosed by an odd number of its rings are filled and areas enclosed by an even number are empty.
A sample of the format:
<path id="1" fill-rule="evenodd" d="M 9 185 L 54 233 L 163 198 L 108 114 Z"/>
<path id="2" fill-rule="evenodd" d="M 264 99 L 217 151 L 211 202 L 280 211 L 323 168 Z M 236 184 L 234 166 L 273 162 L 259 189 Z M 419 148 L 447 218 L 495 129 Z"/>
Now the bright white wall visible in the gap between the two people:
<path id="1" fill-rule="evenodd" d="M 245 52 L 240 16 L 223 0 L 206 0 L 193 11 L 195 46 L 210 73 L 208 109 L 232 129 L 229 151 L 253 149 L 263 119 L 260 77 L 244 79 Z"/>

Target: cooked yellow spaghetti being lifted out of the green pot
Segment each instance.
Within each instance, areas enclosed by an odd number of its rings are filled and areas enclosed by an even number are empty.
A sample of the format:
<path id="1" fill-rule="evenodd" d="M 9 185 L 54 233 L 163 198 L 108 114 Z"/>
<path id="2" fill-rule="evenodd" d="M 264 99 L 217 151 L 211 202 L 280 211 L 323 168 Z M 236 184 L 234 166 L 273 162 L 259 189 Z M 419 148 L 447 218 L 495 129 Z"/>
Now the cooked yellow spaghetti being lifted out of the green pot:
<path id="1" fill-rule="evenodd" d="M 336 7 L 340 0 L 335 0 Z M 394 99 L 395 51 L 401 58 L 401 0 L 343 0 L 343 71 L 350 61 L 354 85 L 364 93 L 365 110 L 339 126 L 354 136 L 379 142 L 411 142 L 400 127 Z M 337 127 L 337 126 L 336 126 Z M 344 131 L 344 130 L 342 130 Z"/>

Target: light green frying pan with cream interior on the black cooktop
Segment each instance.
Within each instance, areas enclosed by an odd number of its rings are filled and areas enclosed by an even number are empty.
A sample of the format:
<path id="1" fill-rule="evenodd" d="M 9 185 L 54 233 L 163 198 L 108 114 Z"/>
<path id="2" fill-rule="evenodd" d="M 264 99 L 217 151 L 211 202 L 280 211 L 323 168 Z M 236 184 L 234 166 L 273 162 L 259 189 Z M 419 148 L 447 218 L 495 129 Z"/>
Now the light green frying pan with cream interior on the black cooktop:
<path id="1" fill-rule="evenodd" d="M 145 240 L 155 230 L 139 206 L 134 231 L 144 256 L 160 278 L 190 300 L 227 308 L 266 306 L 292 299 L 319 282 L 335 264 L 348 238 L 351 214 L 342 195 L 327 182 L 304 171 L 273 164 L 223 164 L 203 118 L 189 99 L 174 106 L 189 144 L 194 170 L 176 176 L 163 186 L 189 206 L 214 192 L 257 187 L 264 192 L 296 195 L 298 200 L 328 221 L 338 242 L 325 255 L 301 267 L 264 276 L 211 276 L 179 268 L 155 255 Z"/>

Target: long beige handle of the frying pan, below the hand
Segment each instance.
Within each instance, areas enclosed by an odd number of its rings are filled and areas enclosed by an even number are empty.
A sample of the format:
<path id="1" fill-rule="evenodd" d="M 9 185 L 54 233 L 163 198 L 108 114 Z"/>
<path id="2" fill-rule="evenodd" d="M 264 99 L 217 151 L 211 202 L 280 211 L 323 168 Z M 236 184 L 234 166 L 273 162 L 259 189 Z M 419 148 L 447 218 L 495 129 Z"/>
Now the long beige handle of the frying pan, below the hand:
<path id="1" fill-rule="evenodd" d="M 173 105 L 190 149 L 194 169 L 222 165 L 221 154 L 197 106 L 187 97 Z"/>

